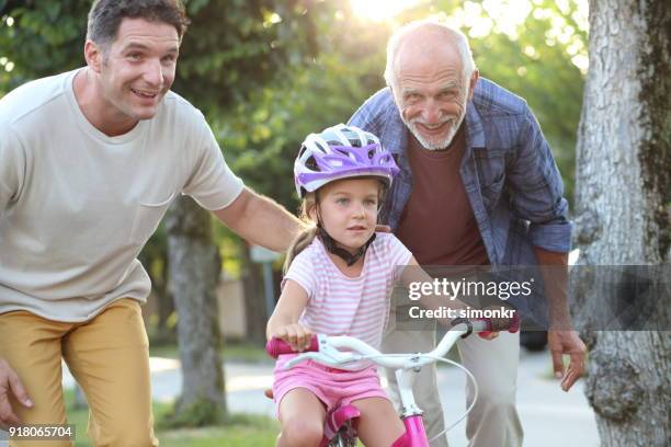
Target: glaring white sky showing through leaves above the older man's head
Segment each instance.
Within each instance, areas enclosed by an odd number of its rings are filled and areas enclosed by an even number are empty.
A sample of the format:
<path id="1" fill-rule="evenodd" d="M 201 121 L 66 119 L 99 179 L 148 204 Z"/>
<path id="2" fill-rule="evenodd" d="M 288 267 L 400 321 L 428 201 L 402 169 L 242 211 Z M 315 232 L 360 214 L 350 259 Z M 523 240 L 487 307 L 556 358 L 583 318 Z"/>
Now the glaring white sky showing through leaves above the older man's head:
<path id="1" fill-rule="evenodd" d="M 373 22 L 393 21 L 394 18 L 405 9 L 427 3 L 422 0 L 350 0 L 352 11 L 363 20 Z M 468 30 L 473 38 L 484 37 L 492 32 L 503 33 L 512 39 L 518 38 L 518 26 L 524 23 L 526 18 L 533 13 L 534 19 L 550 19 L 553 27 L 546 35 L 546 44 L 555 45 L 557 42 L 567 44 L 567 51 L 571 61 L 583 73 L 588 69 L 587 48 L 583 43 L 575 37 L 576 30 L 561 16 L 545 9 L 534 9 L 541 4 L 541 0 L 484 0 L 464 1 L 462 9 L 451 16 L 437 13 L 454 27 Z M 588 0 L 557 0 L 557 7 L 564 13 L 571 10 L 575 4 L 576 11 L 572 19 L 581 30 L 588 28 Z M 532 12 L 533 11 L 533 12 Z M 436 11 L 437 12 L 437 11 Z M 536 51 L 533 47 L 526 47 L 524 53 L 534 57 Z"/>

